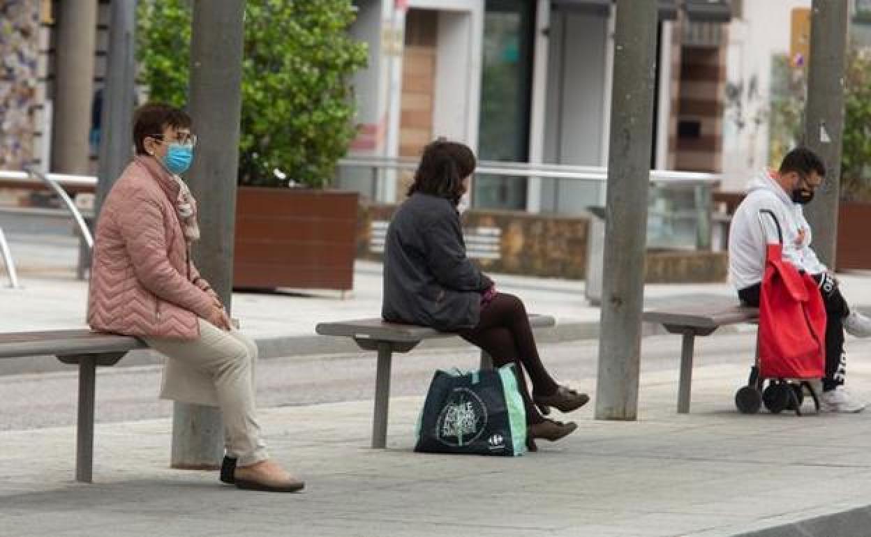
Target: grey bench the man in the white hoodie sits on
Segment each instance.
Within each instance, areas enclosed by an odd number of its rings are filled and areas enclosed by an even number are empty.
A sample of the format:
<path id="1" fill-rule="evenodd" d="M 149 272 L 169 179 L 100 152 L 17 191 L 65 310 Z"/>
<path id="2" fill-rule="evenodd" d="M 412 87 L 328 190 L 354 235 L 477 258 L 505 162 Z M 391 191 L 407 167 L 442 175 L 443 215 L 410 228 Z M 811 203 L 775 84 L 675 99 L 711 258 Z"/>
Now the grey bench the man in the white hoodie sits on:
<path id="1" fill-rule="evenodd" d="M 696 336 L 708 336 L 720 326 L 759 321 L 759 309 L 739 305 L 731 300 L 706 302 L 695 305 L 665 307 L 644 312 L 642 319 L 665 327 L 670 333 L 683 336 L 680 351 L 680 379 L 678 384 L 678 412 L 690 412 L 692 390 L 692 351 Z"/>

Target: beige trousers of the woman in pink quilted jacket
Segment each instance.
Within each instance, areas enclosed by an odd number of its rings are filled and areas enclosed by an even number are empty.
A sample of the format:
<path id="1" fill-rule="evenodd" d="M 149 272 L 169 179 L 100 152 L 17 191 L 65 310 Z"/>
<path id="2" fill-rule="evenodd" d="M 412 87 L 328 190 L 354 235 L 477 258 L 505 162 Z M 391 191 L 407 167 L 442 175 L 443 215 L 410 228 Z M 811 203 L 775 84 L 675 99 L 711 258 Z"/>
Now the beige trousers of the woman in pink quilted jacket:
<path id="1" fill-rule="evenodd" d="M 211 381 L 214 399 L 224 422 L 227 454 L 238 459 L 239 466 L 252 465 L 267 459 L 266 444 L 260 439 L 257 423 L 257 404 L 254 394 L 254 368 L 257 344 L 237 330 L 225 332 L 205 319 L 199 319 L 198 339 L 143 338 L 145 343 L 170 359 L 167 370 L 174 368 L 177 377 L 190 377 L 192 389 L 195 380 Z M 177 360 L 178 364 L 172 364 Z M 186 375 L 186 372 L 190 374 Z M 175 386 L 186 386 L 186 379 L 173 379 Z M 178 390 L 178 387 L 175 388 Z M 170 399 L 203 403 L 199 394 Z M 209 399 L 206 396 L 206 399 Z"/>

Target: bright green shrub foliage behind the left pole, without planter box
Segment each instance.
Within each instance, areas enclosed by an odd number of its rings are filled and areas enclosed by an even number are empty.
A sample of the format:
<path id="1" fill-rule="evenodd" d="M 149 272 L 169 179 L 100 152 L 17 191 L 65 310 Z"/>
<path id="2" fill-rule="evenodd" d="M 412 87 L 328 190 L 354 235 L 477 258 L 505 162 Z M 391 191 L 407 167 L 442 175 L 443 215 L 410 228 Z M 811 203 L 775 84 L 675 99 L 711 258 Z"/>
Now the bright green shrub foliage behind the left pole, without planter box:
<path id="1" fill-rule="evenodd" d="M 246 2 L 240 184 L 322 187 L 334 177 L 356 134 L 349 77 L 368 57 L 348 35 L 354 17 L 350 0 Z M 140 79 L 152 100 L 186 105 L 191 19 L 189 0 L 138 4 Z"/>

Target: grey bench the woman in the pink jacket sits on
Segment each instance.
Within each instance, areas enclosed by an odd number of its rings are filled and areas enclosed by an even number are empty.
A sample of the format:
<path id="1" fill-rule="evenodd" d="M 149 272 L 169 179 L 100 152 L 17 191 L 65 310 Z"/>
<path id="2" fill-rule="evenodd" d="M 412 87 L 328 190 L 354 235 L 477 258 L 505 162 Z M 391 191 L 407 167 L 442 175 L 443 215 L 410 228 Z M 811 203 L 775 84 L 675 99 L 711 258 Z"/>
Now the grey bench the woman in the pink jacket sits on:
<path id="1" fill-rule="evenodd" d="M 128 351 L 142 348 L 147 346 L 137 338 L 90 330 L 0 333 L 0 359 L 50 355 L 78 364 L 77 481 L 92 480 L 97 366 L 114 366 Z"/>

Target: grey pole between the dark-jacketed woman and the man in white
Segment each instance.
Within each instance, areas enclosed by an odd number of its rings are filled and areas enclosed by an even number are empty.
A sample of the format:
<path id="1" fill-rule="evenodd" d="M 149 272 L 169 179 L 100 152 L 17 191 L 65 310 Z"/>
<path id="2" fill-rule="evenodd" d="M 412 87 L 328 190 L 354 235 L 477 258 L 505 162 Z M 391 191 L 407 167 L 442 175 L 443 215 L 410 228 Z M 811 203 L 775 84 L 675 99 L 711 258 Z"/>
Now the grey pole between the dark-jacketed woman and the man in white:
<path id="1" fill-rule="evenodd" d="M 635 420 L 650 183 L 657 3 L 618 0 L 596 419 Z"/>

